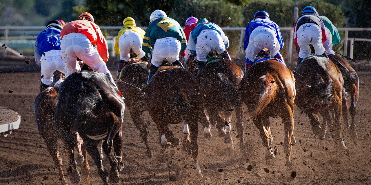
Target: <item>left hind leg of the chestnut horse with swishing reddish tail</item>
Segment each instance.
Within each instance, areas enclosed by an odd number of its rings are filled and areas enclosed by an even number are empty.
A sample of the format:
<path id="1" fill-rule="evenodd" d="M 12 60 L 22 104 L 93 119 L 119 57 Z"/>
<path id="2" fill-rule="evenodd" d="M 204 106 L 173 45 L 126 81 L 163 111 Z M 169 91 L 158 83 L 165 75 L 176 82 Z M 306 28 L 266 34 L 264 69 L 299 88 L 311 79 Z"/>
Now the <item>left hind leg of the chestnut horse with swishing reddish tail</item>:
<path id="1" fill-rule="evenodd" d="M 265 159 L 276 158 L 273 154 L 270 145 L 273 142 L 272 134 L 270 133 L 269 117 L 260 115 L 253 120 L 255 126 L 259 129 L 260 137 L 262 137 L 263 146 L 266 147 Z"/>

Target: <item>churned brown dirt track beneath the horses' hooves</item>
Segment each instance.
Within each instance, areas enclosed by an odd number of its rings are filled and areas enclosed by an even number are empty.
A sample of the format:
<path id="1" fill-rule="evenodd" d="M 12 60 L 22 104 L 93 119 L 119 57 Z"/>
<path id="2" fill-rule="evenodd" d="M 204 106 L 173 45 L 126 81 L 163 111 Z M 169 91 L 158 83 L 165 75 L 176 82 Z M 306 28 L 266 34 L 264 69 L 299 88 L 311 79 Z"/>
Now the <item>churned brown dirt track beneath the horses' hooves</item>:
<path id="1" fill-rule="evenodd" d="M 261 146 L 259 131 L 251 121 L 245 122 L 245 142 L 249 147 L 247 156 L 242 157 L 239 149 L 230 150 L 222 138 L 198 137 L 198 160 L 204 178 L 193 169 L 193 160 L 182 150 L 173 148 L 161 153 L 158 132 L 148 112 L 144 112 L 145 122 L 150 122 L 149 141 L 154 156 L 148 159 L 145 147 L 135 128 L 129 112 L 125 110 L 123 124 L 124 171 L 120 174 L 121 184 L 370 184 L 371 148 L 370 122 L 371 73 L 359 72 L 360 98 L 357 106 L 356 124 L 358 142 L 345 133 L 347 151 L 336 151 L 334 142 L 319 141 L 311 132 L 308 117 L 297 108 L 295 118 L 296 145 L 292 151 L 293 166 L 285 166 L 283 147 L 283 126 L 280 118 L 272 119 L 273 146 L 278 148 L 276 159 L 264 159 L 265 149 Z M 0 105 L 14 108 L 22 117 L 21 128 L 7 138 L 0 138 L 0 184 L 58 184 L 58 170 L 53 169 L 53 160 L 45 143 L 37 132 L 33 114 L 33 101 L 39 92 L 40 73 L 0 73 Z M 9 90 L 14 90 L 9 93 Z M 25 101 L 24 101 L 25 100 Z M 248 115 L 245 115 L 248 117 Z M 235 124 L 232 124 L 235 125 Z M 170 127 L 175 137 L 183 136 L 183 126 Z M 200 132 L 202 132 L 200 127 Z M 216 135 L 216 129 L 212 128 Z M 232 134 L 237 135 L 236 128 Z M 237 138 L 233 138 L 238 142 Z M 67 169 L 66 150 L 59 142 L 64 169 Z M 237 146 L 238 147 L 238 146 Z M 179 148 L 179 147 L 178 147 Z M 168 159 L 168 160 L 167 160 Z M 92 159 L 88 158 L 89 162 Z M 104 159 L 105 165 L 108 165 Z M 92 164 L 92 163 L 91 163 Z M 169 180 L 169 168 L 175 182 Z M 249 167 L 249 165 L 251 165 Z M 252 167 L 252 168 L 251 168 Z M 251 171 L 249 171 L 250 169 Z M 293 172 L 295 171 L 295 173 Z M 295 176 L 296 174 L 296 176 Z M 69 178 L 67 178 L 69 179 Z M 175 180 L 175 179 L 174 179 Z M 40 183 L 40 181 L 42 183 Z M 69 182 L 69 181 L 68 181 Z M 125 183 L 122 183 L 125 182 Z M 95 165 L 91 165 L 91 183 L 101 184 Z M 119 183 L 119 184 L 120 184 Z"/>

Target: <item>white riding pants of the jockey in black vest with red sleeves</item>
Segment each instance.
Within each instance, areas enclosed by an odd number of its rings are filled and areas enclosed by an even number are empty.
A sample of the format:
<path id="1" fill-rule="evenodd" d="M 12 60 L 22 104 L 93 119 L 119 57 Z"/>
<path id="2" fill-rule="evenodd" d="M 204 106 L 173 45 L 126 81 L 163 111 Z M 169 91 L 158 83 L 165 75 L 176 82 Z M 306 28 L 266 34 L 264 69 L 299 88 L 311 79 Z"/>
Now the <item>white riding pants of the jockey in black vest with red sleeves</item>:
<path id="1" fill-rule="evenodd" d="M 298 45 L 300 47 L 299 57 L 305 58 L 311 55 L 312 44 L 316 55 L 321 55 L 325 52 L 324 45 L 322 44 L 322 30 L 314 23 L 305 23 L 298 28 L 296 32 L 298 37 Z"/>

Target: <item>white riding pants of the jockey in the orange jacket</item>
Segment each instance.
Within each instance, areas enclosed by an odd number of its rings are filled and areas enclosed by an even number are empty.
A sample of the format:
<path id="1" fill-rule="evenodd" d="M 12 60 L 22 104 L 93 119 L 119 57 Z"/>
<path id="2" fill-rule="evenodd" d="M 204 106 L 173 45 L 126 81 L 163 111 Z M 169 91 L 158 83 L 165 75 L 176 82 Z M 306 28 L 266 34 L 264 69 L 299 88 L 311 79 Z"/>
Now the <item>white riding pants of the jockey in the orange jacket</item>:
<path id="1" fill-rule="evenodd" d="M 82 33 L 70 33 L 63 36 L 60 49 L 63 61 L 66 63 L 67 76 L 81 71 L 80 65 L 76 62 L 77 58 L 89 65 L 93 71 L 109 73 L 106 63 L 99 56 L 98 50 L 92 45 L 89 38 Z"/>

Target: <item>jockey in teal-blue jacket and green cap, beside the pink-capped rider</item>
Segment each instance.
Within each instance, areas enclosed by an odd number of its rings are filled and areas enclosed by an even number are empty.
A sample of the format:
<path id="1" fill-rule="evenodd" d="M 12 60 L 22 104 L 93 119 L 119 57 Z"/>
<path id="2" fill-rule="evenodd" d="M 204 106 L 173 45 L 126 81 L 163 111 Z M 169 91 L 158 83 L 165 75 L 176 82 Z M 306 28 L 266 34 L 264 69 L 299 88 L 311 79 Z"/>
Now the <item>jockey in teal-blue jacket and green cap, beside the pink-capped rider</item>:
<path id="1" fill-rule="evenodd" d="M 221 28 L 209 22 L 206 18 L 200 18 L 197 26 L 191 32 L 188 40 L 188 47 L 191 53 L 197 57 L 197 68 L 200 72 L 206 64 L 207 55 L 210 51 L 216 50 L 223 58 L 230 60 L 226 48 L 229 47 L 229 40 Z"/>

